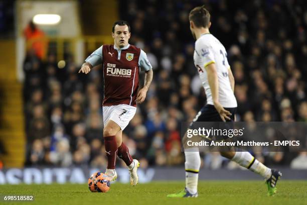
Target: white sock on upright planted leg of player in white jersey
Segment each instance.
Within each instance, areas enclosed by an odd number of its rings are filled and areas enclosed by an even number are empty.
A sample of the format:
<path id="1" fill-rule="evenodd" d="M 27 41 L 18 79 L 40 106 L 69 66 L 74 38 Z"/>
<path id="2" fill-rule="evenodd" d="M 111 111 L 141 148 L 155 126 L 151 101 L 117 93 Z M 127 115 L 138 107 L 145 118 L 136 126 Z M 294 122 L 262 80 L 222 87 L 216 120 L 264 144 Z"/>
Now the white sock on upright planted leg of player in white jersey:
<path id="1" fill-rule="evenodd" d="M 185 156 L 186 188 L 190 193 L 195 194 L 197 193 L 198 172 L 201 165 L 199 151 L 186 149 Z"/>

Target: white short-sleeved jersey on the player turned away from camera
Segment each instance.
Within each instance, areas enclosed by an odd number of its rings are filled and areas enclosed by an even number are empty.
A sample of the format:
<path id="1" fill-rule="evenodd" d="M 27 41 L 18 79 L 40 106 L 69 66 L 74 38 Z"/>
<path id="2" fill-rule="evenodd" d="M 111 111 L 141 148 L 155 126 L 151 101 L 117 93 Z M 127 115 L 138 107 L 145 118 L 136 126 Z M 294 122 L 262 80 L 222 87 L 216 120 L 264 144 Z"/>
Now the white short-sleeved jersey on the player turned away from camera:
<path id="1" fill-rule="evenodd" d="M 230 66 L 225 47 L 212 34 L 203 34 L 195 42 L 194 64 L 207 95 L 207 104 L 213 105 L 212 94 L 205 67 L 215 63 L 219 81 L 219 102 L 224 108 L 237 107 L 237 100 L 231 89 L 228 77 Z"/>

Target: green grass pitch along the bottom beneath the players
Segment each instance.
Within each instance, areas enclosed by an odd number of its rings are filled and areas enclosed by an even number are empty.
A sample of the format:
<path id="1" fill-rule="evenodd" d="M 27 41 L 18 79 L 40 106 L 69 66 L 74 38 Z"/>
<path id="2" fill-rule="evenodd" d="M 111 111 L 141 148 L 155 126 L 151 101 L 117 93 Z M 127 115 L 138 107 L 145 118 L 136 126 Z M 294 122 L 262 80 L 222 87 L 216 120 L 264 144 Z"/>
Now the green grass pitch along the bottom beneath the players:
<path id="1" fill-rule="evenodd" d="M 114 183 L 107 193 L 92 193 L 87 184 L 0 185 L 0 195 L 34 195 L 32 202 L 0 204 L 307 204 L 307 181 L 280 180 L 277 194 L 267 196 L 264 181 L 200 181 L 198 198 L 168 198 L 184 181 Z"/>

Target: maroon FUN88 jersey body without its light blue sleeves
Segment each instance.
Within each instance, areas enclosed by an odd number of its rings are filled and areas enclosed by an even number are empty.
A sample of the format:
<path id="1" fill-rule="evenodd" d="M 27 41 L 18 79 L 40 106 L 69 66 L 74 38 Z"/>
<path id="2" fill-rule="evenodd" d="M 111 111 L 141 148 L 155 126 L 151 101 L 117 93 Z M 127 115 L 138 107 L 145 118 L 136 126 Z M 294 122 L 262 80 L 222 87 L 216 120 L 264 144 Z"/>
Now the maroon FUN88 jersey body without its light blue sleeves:
<path id="1" fill-rule="evenodd" d="M 118 52 L 114 45 L 102 46 L 104 78 L 103 106 L 125 104 L 136 107 L 138 89 L 138 59 L 140 49 L 130 45 Z"/>

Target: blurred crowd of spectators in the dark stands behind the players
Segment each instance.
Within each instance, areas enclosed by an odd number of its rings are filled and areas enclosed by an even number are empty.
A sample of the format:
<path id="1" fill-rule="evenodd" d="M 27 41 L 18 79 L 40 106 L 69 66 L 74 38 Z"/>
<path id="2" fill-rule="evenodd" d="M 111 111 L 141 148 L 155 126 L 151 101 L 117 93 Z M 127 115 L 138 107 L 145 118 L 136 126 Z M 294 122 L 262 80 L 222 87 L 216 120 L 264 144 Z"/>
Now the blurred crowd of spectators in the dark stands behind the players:
<path id="1" fill-rule="evenodd" d="M 211 33 L 226 47 L 235 77 L 237 121 L 307 122 L 307 8 L 303 1 L 127 1 L 121 19 L 131 25 L 130 44 L 142 48 L 154 80 L 123 132 L 131 155 L 148 165 L 184 163 L 181 122 L 192 121 L 206 96 L 193 63 L 189 11 L 204 4 Z M 105 166 L 101 67 L 78 74 L 69 55 L 59 69 L 54 53 L 24 62 L 26 165 Z M 140 79 L 142 77 L 140 76 Z M 255 153 L 265 164 L 306 167 L 307 153 Z M 118 164 L 121 160 L 117 160 Z M 210 168 L 233 167 L 207 153 Z M 122 164 L 123 165 L 123 164 Z"/>

